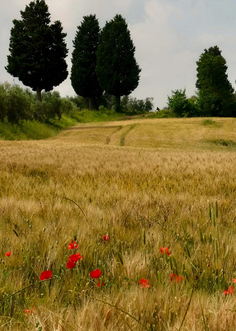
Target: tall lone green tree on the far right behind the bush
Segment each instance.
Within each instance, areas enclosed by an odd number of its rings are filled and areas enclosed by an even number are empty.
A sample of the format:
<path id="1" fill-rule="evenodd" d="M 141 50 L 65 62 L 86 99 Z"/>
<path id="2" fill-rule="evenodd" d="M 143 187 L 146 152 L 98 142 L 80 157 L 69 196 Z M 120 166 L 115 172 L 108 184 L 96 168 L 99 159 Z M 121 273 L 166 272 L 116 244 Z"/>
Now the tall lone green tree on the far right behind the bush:
<path id="1" fill-rule="evenodd" d="M 197 63 L 197 103 L 205 116 L 232 116 L 233 87 L 218 46 L 205 49 Z"/>

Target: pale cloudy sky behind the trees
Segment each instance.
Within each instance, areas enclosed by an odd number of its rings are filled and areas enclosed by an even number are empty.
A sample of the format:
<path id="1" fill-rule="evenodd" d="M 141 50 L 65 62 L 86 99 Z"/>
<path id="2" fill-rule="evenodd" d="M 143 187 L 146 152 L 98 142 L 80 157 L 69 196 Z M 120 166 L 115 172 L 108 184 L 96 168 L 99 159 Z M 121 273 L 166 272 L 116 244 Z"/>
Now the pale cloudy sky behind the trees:
<path id="1" fill-rule="evenodd" d="M 10 30 L 21 19 L 30 0 L 0 0 L 0 82 L 15 82 L 4 67 L 9 54 Z M 205 48 L 218 45 L 226 59 L 228 78 L 236 88 L 236 1 L 235 0 L 46 0 L 51 21 L 60 20 L 69 49 L 69 75 L 54 89 L 61 96 L 74 95 L 70 83 L 71 53 L 77 26 L 83 16 L 96 14 L 100 28 L 116 14 L 128 24 L 141 68 L 138 87 L 131 96 L 154 98 L 154 106 L 166 106 L 172 90 L 186 88 L 195 93 L 196 61 Z"/>

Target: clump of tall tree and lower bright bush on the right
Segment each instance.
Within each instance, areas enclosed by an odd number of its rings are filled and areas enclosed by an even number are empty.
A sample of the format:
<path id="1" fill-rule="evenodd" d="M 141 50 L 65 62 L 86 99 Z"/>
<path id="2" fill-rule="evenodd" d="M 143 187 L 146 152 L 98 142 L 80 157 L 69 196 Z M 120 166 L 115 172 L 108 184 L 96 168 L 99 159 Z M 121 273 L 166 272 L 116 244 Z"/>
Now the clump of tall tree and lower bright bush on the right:
<path id="1" fill-rule="evenodd" d="M 235 117 L 236 94 L 228 80 L 226 60 L 218 46 L 205 49 L 196 63 L 196 94 L 187 99 L 185 89 L 172 91 L 165 114 L 177 117 Z"/>

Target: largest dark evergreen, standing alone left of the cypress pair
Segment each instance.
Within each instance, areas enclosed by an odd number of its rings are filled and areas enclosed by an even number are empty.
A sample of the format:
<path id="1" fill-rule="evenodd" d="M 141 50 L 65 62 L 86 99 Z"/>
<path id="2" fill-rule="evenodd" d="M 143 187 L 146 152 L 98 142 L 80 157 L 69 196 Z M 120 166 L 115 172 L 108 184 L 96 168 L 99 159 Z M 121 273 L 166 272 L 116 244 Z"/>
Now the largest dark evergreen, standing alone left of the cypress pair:
<path id="1" fill-rule="evenodd" d="M 60 21 L 49 25 L 45 0 L 31 1 L 20 14 L 22 20 L 13 20 L 5 69 L 36 91 L 41 101 L 42 89 L 51 91 L 68 76 L 66 33 L 62 32 Z"/>

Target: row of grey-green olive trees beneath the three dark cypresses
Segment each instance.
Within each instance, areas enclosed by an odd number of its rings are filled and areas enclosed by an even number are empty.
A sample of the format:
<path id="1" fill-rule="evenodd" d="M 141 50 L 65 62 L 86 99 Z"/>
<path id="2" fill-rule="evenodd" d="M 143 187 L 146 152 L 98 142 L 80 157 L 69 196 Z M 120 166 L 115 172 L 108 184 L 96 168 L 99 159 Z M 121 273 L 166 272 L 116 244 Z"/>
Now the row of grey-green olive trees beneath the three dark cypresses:
<path id="1" fill-rule="evenodd" d="M 121 98 L 121 109 L 124 113 L 135 115 L 149 112 L 153 108 L 153 98 L 137 100 L 130 96 Z M 114 110 L 115 97 L 103 93 L 97 100 L 97 108 L 101 112 Z M 81 96 L 60 97 L 58 91 L 42 92 L 41 101 L 37 94 L 23 89 L 17 84 L 8 82 L 0 84 L 0 120 L 7 119 L 11 123 L 19 120 L 38 120 L 48 122 L 50 119 L 61 119 L 62 114 L 73 116 L 77 111 L 88 108 L 88 100 Z"/>

